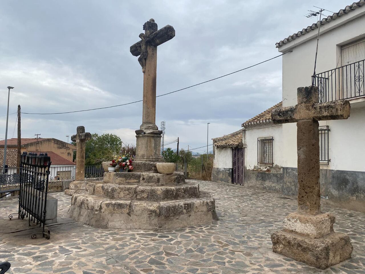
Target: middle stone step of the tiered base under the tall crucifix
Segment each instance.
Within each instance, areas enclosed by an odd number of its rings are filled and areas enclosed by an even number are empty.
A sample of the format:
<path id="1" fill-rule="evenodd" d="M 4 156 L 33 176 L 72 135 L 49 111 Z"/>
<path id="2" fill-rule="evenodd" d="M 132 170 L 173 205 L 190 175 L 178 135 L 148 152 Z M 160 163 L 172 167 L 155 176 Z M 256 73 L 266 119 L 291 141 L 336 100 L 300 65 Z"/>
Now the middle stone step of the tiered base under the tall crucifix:
<path id="1" fill-rule="evenodd" d="M 199 197 L 199 184 L 184 183 L 178 186 L 137 186 L 105 183 L 88 183 L 86 194 L 108 199 L 168 201 Z"/>

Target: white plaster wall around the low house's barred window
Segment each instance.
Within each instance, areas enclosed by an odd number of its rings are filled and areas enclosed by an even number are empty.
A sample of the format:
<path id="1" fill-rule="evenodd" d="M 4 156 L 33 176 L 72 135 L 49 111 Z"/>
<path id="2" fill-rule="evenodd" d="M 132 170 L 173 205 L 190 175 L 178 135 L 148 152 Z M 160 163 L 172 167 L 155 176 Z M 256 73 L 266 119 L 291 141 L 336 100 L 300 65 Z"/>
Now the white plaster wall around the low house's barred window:
<path id="1" fill-rule="evenodd" d="M 261 128 L 246 129 L 246 140 L 243 142 L 247 145 L 245 166 L 247 169 L 253 169 L 257 165 L 257 138 L 273 137 L 273 162 L 274 165 L 283 166 L 283 130 L 282 125 L 263 126 Z M 285 166 L 285 165 L 284 165 Z"/>

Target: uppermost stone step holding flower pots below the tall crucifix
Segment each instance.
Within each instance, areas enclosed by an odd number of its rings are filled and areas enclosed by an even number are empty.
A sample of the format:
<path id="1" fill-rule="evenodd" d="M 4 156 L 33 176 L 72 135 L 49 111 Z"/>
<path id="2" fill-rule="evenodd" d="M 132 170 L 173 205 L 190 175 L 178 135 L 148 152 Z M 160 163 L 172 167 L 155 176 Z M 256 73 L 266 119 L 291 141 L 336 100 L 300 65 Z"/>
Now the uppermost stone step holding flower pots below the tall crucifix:
<path id="1" fill-rule="evenodd" d="M 160 174 L 150 172 L 105 172 L 104 183 L 139 185 L 139 186 L 169 186 L 185 182 L 183 172 Z"/>

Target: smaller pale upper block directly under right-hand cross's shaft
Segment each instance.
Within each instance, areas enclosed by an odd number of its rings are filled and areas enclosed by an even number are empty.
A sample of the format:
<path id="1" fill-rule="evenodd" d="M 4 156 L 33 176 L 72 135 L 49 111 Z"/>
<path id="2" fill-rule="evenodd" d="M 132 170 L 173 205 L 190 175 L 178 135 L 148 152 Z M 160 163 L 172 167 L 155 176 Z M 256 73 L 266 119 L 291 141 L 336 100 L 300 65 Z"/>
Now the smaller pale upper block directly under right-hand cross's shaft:
<path id="1" fill-rule="evenodd" d="M 293 231 L 312 239 L 323 237 L 333 232 L 335 216 L 330 213 L 306 214 L 290 213 L 284 219 L 284 231 Z"/>

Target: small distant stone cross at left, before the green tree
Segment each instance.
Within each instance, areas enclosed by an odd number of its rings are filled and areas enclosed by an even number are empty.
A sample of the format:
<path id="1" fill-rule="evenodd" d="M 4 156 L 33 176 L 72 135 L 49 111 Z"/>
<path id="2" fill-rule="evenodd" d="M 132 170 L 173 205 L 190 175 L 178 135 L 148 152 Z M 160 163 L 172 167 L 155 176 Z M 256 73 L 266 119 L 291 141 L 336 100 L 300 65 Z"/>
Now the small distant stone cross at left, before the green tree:
<path id="1" fill-rule="evenodd" d="M 76 181 L 85 180 L 85 142 L 91 139 L 91 133 L 85 132 L 84 126 L 78 126 L 71 140 L 76 142 Z"/>

